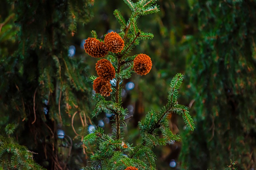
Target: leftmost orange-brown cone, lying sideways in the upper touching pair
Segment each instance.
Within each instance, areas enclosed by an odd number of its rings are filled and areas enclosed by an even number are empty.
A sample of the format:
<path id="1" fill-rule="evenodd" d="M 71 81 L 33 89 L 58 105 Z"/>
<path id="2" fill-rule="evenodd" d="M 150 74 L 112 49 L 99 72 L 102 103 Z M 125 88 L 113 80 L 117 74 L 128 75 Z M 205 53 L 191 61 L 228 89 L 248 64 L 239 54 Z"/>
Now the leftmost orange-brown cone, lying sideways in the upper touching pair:
<path id="1" fill-rule="evenodd" d="M 103 42 L 96 38 L 88 38 L 84 43 L 84 50 L 92 57 L 100 58 L 108 54 L 108 50 Z"/>

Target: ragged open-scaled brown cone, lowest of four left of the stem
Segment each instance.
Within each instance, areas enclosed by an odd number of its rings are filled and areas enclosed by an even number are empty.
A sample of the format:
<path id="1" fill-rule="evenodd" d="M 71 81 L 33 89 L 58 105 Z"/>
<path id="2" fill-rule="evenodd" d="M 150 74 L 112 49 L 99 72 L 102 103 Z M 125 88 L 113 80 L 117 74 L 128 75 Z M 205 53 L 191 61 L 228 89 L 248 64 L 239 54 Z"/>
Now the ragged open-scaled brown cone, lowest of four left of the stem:
<path id="1" fill-rule="evenodd" d="M 109 96 L 110 92 L 112 92 L 110 83 L 99 77 L 93 81 L 93 90 L 102 96 Z"/>

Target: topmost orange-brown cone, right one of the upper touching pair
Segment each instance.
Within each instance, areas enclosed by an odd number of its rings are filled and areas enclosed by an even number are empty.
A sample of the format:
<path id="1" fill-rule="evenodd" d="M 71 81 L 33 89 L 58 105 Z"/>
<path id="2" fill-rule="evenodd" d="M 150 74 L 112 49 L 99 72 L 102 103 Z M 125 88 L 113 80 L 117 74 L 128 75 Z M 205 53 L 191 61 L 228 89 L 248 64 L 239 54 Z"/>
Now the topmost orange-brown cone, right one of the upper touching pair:
<path id="1" fill-rule="evenodd" d="M 121 52 L 124 49 L 124 40 L 122 40 L 118 33 L 113 31 L 105 36 L 104 43 L 108 51 L 113 53 Z"/>

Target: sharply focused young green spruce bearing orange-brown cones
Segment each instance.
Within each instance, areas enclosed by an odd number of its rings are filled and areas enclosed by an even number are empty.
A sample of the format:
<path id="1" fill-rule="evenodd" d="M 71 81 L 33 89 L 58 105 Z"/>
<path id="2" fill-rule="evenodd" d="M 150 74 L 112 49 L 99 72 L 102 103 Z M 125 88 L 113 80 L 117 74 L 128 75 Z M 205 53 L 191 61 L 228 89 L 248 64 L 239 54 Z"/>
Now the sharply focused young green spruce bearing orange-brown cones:
<path id="1" fill-rule="evenodd" d="M 95 31 L 92 31 L 92 37 L 89 37 L 84 44 L 85 52 L 92 57 L 101 58 L 108 54 L 107 59 L 100 59 L 96 63 L 95 68 L 99 77 L 91 77 L 96 92 L 93 98 L 97 101 L 93 116 L 102 113 L 115 116 L 111 135 L 105 134 L 102 128 L 97 127 L 84 137 L 84 144 L 89 147 L 97 144 L 97 150 L 91 155 L 92 165 L 84 167 L 85 170 L 156 169 L 155 154 L 150 148 L 171 144 L 172 141 L 180 139 L 178 134 L 173 134 L 169 129 L 167 116 L 171 113 L 181 115 L 188 129 L 195 128 L 188 107 L 178 104 L 177 101 L 178 89 L 183 79 L 183 75 L 179 73 L 171 81 L 166 106 L 158 113 L 149 111 L 145 120 L 139 122 L 141 144 L 132 147 L 124 141 L 125 120 L 131 117 L 126 117 L 128 110 L 122 106 L 123 81 L 130 78 L 134 72 L 139 75 L 148 74 L 152 66 L 151 59 L 146 54 L 129 55 L 141 40 L 153 38 L 152 33 L 145 33 L 138 28 L 137 19 L 158 11 L 156 0 L 137 2 L 124 0 L 124 2 L 131 9 L 132 14 L 125 20 L 120 11 L 114 11 L 121 25 L 120 32 L 106 34 L 103 41 L 98 39 Z"/>

